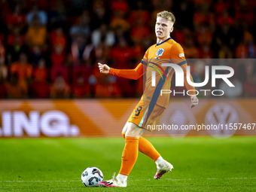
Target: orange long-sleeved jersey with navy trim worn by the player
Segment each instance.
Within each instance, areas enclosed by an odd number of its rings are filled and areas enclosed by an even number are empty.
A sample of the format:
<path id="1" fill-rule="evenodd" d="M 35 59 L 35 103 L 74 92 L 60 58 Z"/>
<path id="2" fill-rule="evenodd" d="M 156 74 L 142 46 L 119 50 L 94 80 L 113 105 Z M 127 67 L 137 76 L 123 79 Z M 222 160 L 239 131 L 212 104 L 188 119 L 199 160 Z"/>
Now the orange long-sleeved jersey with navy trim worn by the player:
<path id="1" fill-rule="evenodd" d="M 162 63 L 174 63 L 181 66 L 187 90 L 194 90 L 194 87 L 187 83 L 187 62 L 184 57 L 184 50 L 172 38 L 149 47 L 136 69 L 110 69 L 109 74 L 122 78 L 138 79 L 146 73 L 143 99 L 166 108 L 169 103 L 169 94 L 164 93 L 161 96 L 160 92 L 161 90 L 170 90 L 172 75 L 175 70 L 171 66 L 162 66 Z M 155 71 L 155 87 L 152 86 L 152 71 Z M 191 75 L 190 80 L 193 82 Z M 190 92 L 190 95 L 194 94 L 195 92 Z"/>

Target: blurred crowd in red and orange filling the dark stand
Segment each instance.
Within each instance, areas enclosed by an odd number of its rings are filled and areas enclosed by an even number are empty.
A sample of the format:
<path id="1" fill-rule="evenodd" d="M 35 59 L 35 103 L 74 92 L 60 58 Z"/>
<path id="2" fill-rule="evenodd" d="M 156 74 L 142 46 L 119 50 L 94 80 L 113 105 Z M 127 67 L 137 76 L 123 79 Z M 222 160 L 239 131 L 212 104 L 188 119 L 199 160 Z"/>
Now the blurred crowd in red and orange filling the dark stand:
<path id="1" fill-rule="evenodd" d="M 235 88 L 218 81 L 215 90 L 256 96 L 254 0 L 0 0 L 0 98 L 141 96 L 142 78 L 102 75 L 97 62 L 134 69 L 156 43 L 164 10 L 175 14 L 171 37 L 195 82 L 204 81 L 206 65 L 228 63 Z"/>

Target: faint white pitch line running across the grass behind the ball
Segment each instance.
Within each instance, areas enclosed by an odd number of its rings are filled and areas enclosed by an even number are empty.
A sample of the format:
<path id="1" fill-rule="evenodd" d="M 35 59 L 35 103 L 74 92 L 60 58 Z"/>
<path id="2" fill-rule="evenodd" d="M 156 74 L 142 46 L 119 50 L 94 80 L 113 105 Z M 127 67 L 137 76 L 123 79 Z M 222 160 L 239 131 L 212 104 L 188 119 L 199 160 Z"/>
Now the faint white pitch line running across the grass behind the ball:
<path id="1" fill-rule="evenodd" d="M 212 179 L 220 179 L 223 180 L 223 178 L 206 178 L 209 180 Z M 256 179 L 255 178 L 224 178 L 224 179 Z M 154 179 L 152 179 L 154 180 Z M 169 180 L 169 181 L 190 181 L 190 180 L 198 180 L 198 179 L 194 179 L 194 178 L 164 178 L 164 180 Z M 151 181 L 151 178 L 148 179 L 134 179 L 134 180 L 129 180 L 129 181 Z M 0 182 L 81 182 L 81 180 L 71 180 L 71 181 L 0 181 Z"/>

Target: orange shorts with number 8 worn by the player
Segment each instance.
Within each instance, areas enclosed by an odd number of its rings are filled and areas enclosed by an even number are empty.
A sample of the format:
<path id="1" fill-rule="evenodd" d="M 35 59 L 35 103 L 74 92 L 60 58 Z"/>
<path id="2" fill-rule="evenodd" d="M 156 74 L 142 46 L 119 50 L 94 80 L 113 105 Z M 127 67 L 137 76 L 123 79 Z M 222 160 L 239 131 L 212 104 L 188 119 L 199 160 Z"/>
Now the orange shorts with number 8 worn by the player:
<path id="1" fill-rule="evenodd" d="M 163 114 L 165 109 L 166 108 L 160 107 L 159 105 L 151 102 L 143 101 L 143 99 L 141 99 L 127 121 L 149 130 L 150 128 L 147 129 L 147 126 L 152 125 L 154 121 L 156 121 L 157 118 Z"/>

